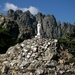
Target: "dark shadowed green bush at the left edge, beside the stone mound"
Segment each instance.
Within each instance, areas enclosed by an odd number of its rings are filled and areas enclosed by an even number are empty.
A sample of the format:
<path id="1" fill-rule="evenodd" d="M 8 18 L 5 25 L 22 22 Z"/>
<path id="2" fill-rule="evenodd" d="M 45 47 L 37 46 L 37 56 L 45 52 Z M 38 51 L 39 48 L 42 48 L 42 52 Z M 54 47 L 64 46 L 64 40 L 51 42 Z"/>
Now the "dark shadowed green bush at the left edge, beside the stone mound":
<path id="1" fill-rule="evenodd" d="M 3 54 L 7 49 L 15 44 L 15 39 L 9 34 L 9 29 L 2 28 L 0 25 L 0 54 Z"/>

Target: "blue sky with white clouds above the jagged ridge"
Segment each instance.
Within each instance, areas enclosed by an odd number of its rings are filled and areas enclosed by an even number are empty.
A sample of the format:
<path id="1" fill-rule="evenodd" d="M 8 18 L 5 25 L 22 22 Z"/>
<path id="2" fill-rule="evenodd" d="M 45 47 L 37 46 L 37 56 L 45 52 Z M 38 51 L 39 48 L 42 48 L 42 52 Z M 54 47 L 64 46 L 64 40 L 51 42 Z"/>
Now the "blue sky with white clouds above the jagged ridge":
<path id="1" fill-rule="evenodd" d="M 6 14 L 9 9 L 54 15 L 61 23 L 75 22 L 75 0 L 1 0 L 0 13 Z"/>

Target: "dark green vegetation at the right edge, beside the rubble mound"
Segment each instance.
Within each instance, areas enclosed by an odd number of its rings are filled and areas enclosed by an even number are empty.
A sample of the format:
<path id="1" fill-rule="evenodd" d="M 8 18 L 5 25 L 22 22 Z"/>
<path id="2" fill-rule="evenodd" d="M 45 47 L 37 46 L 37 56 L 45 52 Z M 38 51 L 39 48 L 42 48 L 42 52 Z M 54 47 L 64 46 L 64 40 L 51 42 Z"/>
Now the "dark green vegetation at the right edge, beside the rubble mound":
<path id="1" fill-rule="evenodd" d="M 64 48 L 67 48 L 75 56 L 75 26 L 72 32 L 66 33 L 66 38 L 59 38 L 58 40 Z"/>

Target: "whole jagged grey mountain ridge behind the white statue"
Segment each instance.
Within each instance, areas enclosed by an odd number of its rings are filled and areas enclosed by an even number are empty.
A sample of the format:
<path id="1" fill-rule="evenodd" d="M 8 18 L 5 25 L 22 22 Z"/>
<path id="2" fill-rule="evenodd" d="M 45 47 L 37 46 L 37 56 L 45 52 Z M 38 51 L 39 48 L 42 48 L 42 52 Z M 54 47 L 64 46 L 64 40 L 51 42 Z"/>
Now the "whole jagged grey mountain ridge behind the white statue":
<path id="1" fill-rule="evenodd" d="M 60 21 L 56 21 L 53 15 L 44 15 L 40 12 L 32 15 L 29 11 L 22 12 L 21 10 L 13 11 L 10 9 L 7 12 L 7 18 L 16 22 L 16 26 L 18 27 L 16 30 L 18 30 L 19 33 L 15 33 L 14 35 L 17 35 L 18 38 L 25 38 L 27 34 L 30 35 L 29 38 L 34 37 L 37 34 L 36 28 L 38 21 L 41 22 L 41 35 L 44 38 L 65 37 L 65 34 L 71 32 L 73 28 L 73 25 L 68 22 L 61 24 Z M 4 26 L 4 20 L 0 20 Z"/>

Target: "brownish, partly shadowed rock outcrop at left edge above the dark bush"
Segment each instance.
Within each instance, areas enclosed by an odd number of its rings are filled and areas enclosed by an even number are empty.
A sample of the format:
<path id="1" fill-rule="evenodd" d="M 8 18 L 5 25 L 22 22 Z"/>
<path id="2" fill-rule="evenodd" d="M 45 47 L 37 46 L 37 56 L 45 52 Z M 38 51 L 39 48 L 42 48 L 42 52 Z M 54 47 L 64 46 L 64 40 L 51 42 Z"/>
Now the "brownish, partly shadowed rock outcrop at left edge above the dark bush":
<path id="1" fill-rule="evenodd" d="M 0 25 L 3 28 L 8 28 L 12 37 L 18 38 L 19 26 L 14 20 L 0 14 Z"/>

